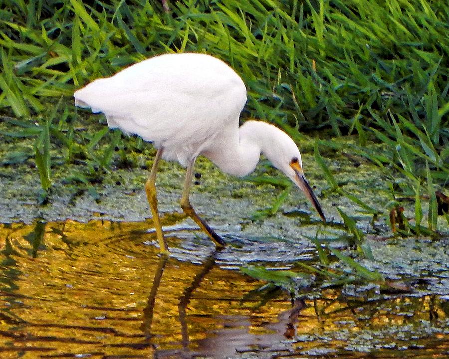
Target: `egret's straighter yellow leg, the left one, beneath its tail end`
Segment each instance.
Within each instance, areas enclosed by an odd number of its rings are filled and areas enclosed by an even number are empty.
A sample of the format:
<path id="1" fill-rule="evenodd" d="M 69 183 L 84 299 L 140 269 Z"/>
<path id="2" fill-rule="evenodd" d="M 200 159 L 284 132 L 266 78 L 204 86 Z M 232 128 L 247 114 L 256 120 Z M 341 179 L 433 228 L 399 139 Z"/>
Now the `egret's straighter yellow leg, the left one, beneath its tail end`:
<path id="1" fill-rule="evenodd" d="M 168 254 L 167 242 L 162 233 L 161 218 L 158 210 L 158 197 L 156 196 L 156 173 L 158 172 L 159 161 L 162 157 L 163 148 L 159 148 L 154 158 L 153 167 L 151 168 L 150 176 L 148 176 L 145 183 L 145 191 L 147 192 L 148 203 L 150 204 L 151 214 L 153 215 L 154 228 L 159 241 L 161 253 Z"/>

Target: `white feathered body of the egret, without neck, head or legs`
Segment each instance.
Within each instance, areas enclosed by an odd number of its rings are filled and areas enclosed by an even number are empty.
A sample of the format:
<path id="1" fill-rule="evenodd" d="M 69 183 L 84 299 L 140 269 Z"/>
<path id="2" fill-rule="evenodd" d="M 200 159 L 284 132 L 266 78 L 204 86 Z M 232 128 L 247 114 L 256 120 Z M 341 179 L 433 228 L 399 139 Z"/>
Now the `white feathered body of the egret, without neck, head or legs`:
<path id="1" fill-rule="evenodd" d="M 202 152 L 219 150 L 220 143 L 238 142 L 246 88 L 223 61 L 183 53 L 136 63 L 89 83 L 74 97 L 76 105 L 104 113 L 109 127 L 163 146 L 164 159 L 185 166 Z"/>

